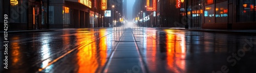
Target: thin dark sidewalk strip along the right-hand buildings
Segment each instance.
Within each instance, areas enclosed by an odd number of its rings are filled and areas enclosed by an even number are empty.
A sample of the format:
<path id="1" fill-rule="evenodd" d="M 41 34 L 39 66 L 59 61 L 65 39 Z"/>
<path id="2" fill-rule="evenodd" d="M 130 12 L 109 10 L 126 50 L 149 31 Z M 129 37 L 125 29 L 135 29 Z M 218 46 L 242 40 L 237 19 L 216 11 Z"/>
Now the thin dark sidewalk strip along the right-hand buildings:
<path id="1" fill-rule="evenodd" d="M 256 34 L 255 30 L 227 30 L 227 29 L 201 29 L 201 28 L 157 28 L 157 29 L 171 29 L 171 30 L 190 30 L 200 32 L 214 32 L 214 33 L 230 33 L 230 34 Z"/>

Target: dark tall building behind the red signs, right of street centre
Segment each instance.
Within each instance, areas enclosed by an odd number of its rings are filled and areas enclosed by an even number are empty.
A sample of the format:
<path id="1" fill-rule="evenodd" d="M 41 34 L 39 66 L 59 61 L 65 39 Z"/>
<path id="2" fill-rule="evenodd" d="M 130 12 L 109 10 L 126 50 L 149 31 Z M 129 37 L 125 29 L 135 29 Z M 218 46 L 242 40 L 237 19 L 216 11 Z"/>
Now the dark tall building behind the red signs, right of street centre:
<path id="1" fill-rule="evenodd" d="M 176 0 L 158 0 L 157 24 L 158 27 L 177 27 L 183 26 L 177 23 L 181 22 L 182 15 L 180 9 L 177 9 Z"/>

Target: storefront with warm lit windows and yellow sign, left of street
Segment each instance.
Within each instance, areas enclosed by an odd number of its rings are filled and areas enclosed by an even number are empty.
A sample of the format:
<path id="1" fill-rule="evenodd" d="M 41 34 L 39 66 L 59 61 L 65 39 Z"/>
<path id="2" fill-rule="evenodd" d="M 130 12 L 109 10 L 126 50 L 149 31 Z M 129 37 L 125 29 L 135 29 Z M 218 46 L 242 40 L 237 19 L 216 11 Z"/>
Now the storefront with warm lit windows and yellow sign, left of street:
<path id="1" fill-rule="evenodd" d="M 49 6 L 50 28 L 93 28 L 94 14 L 97 20 L 98 13 L 91 8 L 89 0 L 52 1 Z"/>

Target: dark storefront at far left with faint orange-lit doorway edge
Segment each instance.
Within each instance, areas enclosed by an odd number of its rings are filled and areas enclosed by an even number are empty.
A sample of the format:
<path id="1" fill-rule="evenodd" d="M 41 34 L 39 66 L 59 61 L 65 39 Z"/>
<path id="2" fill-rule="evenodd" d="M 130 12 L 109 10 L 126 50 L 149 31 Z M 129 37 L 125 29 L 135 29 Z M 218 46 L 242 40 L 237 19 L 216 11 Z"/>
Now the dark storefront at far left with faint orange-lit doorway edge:
<path id="1" fill-rule="evenodd" d="M 0 16 L 8 15 L 8 30 L 41 29 L 41 1 L 5 0 L 0 1 Z"/>

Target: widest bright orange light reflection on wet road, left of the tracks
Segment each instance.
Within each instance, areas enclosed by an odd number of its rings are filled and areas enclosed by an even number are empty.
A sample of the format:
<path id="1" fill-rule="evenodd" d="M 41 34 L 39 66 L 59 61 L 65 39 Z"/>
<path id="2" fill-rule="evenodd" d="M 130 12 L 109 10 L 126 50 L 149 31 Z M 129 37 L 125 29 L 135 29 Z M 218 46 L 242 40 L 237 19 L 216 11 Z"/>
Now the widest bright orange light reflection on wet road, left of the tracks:
<path id="1" fill-rule="evenodd" d="M 78 48 L 78 53 L 77 53 L 77 64 L 79 66 L 78 72 L 95 72 L 97 65 L 94 64 L 95 61 L 95 56 L 92 55 L 92 53 L 95 53 L 95 50 L 92 47 L 95 45 L 94 43 L 90 43 L 88 45 L 82 44 L 82 43 L 89 43 L 94 39 L 92 37 L 92 33 L 84 34 L 84 35 L 79 35 L 81 33 L 78 33 L 77 36 L 77 44 L 82 45 L 81 47 Z"/>

